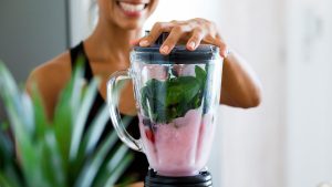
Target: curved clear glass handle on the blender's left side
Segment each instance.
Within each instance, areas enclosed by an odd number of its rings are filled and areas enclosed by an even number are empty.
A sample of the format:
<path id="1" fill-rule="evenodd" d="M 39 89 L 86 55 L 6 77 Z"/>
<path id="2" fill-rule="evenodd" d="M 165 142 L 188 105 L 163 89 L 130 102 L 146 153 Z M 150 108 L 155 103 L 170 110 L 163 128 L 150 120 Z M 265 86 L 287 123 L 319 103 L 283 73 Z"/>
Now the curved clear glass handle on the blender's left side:
<path id="1" fill-rule="evenodd" d="M 110 110 L 110 115 L 112 124 L 120 139 L 132 149 L 142 152 L 142 141 L 135 139 L 133 136 L 129 135 L 120 116 L 118 93 L 121 89 L 118 89 L 118 85 L 121 81 L 125 80 L 132 80 L 129 71 L 117 71 L 111 75 L 111 79 L 107 83 L 107 105 Z"/>

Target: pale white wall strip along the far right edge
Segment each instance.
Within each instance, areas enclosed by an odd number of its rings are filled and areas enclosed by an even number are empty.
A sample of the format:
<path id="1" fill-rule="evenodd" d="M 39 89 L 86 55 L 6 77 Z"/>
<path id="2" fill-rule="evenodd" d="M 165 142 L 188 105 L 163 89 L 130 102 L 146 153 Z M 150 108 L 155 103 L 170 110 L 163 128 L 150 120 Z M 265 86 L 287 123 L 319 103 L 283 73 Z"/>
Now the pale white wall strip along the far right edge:
<path id="1" fill-rule="evenodd" d="M 287 1 L 287 187 L 332 180 L 332 1 Z"/>

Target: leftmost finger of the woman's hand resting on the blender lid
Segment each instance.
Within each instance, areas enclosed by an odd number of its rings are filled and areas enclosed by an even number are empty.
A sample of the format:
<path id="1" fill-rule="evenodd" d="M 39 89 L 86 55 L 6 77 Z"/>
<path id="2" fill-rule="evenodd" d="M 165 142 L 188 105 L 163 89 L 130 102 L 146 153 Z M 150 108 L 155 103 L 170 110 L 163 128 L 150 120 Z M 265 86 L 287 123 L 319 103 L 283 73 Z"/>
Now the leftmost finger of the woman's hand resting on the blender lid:
<path id="1" fill-rule="evenodd" d="M 163 32 L 169 32 L 173 28 L 172 22 L 157 22 L 153 25 L 153 29 L 149 31 L 148 35 L 142 38 L 142 40 L 139 41 L 139 45 L 141 46 L 148 46 L 152 43 L 154 43 L 158 37 L 163 33 Z"/>

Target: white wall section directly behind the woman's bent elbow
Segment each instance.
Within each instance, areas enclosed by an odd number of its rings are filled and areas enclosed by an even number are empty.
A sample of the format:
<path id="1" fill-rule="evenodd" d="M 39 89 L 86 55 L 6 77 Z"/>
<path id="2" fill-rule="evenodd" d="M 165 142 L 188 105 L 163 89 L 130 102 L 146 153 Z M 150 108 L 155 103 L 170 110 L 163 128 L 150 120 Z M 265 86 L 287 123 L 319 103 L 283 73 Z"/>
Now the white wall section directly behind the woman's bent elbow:
<path id="1" fill-rule="evenodd" d="M 225 187 L 284 186 L 286 61 L 283 2 L 222 0 L 220 30 L 258 73 L 261 106 L 224 112 Z"/>

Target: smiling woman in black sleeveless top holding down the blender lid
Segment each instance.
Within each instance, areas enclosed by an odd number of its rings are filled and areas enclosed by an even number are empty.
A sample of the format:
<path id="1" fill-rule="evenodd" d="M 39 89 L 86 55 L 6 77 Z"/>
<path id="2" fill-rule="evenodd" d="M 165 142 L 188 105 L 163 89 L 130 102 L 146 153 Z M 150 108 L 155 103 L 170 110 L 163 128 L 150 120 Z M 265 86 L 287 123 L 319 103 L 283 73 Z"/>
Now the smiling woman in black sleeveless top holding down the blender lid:
<path id="1" fill-rule="evenodd" d="M 156 23 L 147 37 L 139 39 L 143 23 L 154 12 L 158 0 L 97 0 L 97 4 L 100 14 L 94 32 L 77 46 L 37 67 L 28 80 L 28 90 L 32 83 L 37 83 L 50 120 L 59 94 L 71 77 L 72 66 L 79 54 L 85 58 L 85 79 L 90 80 L 96 75 L 102 77 L 98 102 L 103 103 L 110 74 L 129 66 L 131 45 L 148 46 L 162 32 L 169 32 L 169 37 L 160 46 L 160 53 L 165 55 L 178 42 L 185 42 L 188 50 L 195 50 L 201 42 L 219 46 L 220 55 L 226 58 L 220 102 L 243 108 L 259 105 L 260 86 L 253 72 L 235 52 L 228 54 L 227 44 L 212 22 L 197 18 Z M 128 86 L 125 90 L 123 100 L 120 101 L 120 111 L 123 114 L 135 115 L 132 89 Z M 139 166 L 129 168 L 129 172 L 132 169 L 141 174 L 141 180 L 145 175 L 144 169 L 147 168 L 144 159 L 135 157 L 133 165 Z"/>

